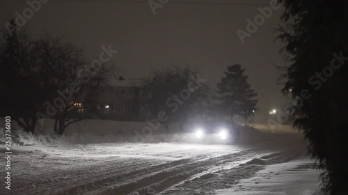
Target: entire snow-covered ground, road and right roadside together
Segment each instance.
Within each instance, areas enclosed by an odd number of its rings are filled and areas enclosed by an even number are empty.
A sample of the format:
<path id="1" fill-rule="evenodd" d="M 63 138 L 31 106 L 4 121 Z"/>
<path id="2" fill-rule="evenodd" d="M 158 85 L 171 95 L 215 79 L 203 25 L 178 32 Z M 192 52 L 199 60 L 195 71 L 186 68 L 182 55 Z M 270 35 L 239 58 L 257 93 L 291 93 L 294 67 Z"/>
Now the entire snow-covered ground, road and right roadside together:
<path id="1" fill-rule="evenodd" d="M 171 140 L 168 143 L 120 142 L 109 137 L 107 141 L 113 143 L 76 144 L 86 141 L 86 135 L 79 136 L 66 136 L 69 142 L 59 138 L 13 146 L 11 190 L 3 186 L 0 194 L 307 195 L 319 191 L 318 173 L 310 169 L 313 161 L 304 157 L 307 144 L 296 134 L 257 133 L 250 139 L 253 142 L 232 145 L 189 144 L 184 142 L 189 134 L 153 135 L 157 141 Z M 93 134 L 87 137 L 93 141 Z M 173 142 L 177 139 L 181 142 Z M 4 151 L 0 146 L 1 159 Z M 5 175 L 5 169 L 0 169 L 0 175 Z"/>

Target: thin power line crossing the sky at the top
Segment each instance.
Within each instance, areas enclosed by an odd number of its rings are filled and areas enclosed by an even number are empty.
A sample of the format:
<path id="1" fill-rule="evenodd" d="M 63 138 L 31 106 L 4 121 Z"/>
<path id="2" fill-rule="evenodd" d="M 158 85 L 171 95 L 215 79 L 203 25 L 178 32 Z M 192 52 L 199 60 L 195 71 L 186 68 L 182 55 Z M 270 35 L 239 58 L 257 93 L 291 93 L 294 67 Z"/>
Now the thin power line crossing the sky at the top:
<path id="1" fill-rule="evenodd" d="M 102 2 L 102 3 L 148 3 L 148 1 L 141 1 L 141 0 L 56 0 L 56 1 L 80 1 L 80 2 Z M 199 2 L 199 1 L 168 1 L 167 3 L 192 4 L 192 5 L 269 6 L 269 4 L 267 3 L 222 3 L 222 2 Z"/>

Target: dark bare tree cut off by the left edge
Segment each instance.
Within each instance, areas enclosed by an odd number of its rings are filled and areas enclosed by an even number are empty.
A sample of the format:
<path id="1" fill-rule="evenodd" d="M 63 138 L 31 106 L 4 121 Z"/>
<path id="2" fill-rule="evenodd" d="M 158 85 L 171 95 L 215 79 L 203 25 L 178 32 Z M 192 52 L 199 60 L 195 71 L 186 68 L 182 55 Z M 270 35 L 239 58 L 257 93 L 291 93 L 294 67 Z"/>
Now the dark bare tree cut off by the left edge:
<path id="1" fill-rule="evenodd" d="M 42 77 L 36 67 L 38 42 L 25 31 L 17 31 L 14 21 L 10 22 L 10 32 L 2 33 L 0 46 L 0 102 L 1 117 L 10 116 L 13 121 L 32 132 L 43 97 Z"/>

